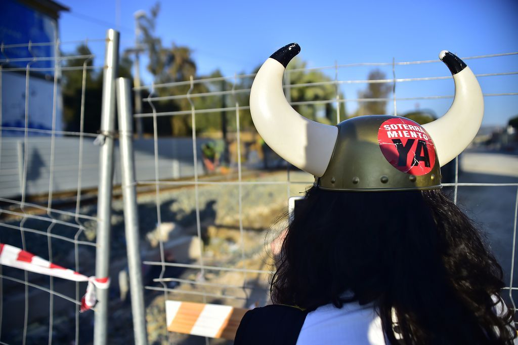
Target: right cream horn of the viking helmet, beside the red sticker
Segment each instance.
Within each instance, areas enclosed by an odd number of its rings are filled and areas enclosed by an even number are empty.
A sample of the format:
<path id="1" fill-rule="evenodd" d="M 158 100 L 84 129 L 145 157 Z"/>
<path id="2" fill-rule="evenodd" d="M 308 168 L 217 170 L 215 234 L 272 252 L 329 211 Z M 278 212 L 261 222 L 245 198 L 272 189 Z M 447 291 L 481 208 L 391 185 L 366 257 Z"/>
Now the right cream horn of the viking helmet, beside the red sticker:
<path id="1" fill-rule="evenodd" d="M 434 140 L 443 166 L 460 154 L 477 135 L 484 115 L 484 99 L 477 78 L 461 59 L 446 50 L 439 53 L 439 59 L 453 75 L 455 97 L 441 118 L 423 127 Z"/>

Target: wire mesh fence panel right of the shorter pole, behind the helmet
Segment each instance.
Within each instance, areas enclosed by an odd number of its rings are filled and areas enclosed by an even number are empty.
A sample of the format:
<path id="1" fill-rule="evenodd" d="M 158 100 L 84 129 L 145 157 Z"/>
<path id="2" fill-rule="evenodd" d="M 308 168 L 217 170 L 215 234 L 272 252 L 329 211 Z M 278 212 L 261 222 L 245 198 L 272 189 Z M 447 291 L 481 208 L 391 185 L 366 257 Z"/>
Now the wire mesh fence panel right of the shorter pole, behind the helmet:
<path id="1" fill-rule="evenodd" d="M 498 101 L 492 99 L 518 95 L 512 88 L 498 89 L 493 84 L 493 81 L 501 80 L 498 78 L 516 78 L 518 71 L 500 70 L 498 59 L 509 59 L 503 64 L 506 66 L 513 59 L 510 65 L 516 67 L 517 55 L 518 52 L 511 52 L 462 58 L 469 61 L 473 70 L 481 72 L 477 77 L 482 90 L 495 89 L 484 93 L 486 116 L 498 111 Z M 373 67 L 392 78 L 354 78 L 366 75 Z M 328 76 L 327 80 L 313 82 L 300 78 L 300 74 L 314 71 Z M 343 121 L 353 113 L 362 114 L 366 103 L 383 103 L 386 113 L 406 115 L 408 110 L 401 113 L 398 109 L 409 109 L 409 102 L 420 102 L 416 108 L 439 109 L 440 116 L 440 112 L 448 110 L 454 94 L 452 77 L 444 74 L 447 70 L 439 60 L 335 63 L 318 68 L 287 69 L 284 91 L 297 111 L 326 123 Z M 261 145 L 261 138 L 252 128 L 248 106 L 254 76 L 191 77 L 189 81 L 134 88 L 134 92 L 145 93 L 143 110 L 134 114 L 135 121 L 148 121 L 143 127 L 148 128 L 149 140 L 153 141 L 153 160 L 149 165 L 154 166 L 155 176 L 150 179 L 137 173 L 141 225 L 152 228 L 146 235 L 150 252 L 143 255 L 145 288 L 158 294 L 147 294 L 152 306 L 148 307 L 148 323 L 151 321 L 148 329 L 155 330 L 153 334 L 150 332 L 151 340 L 175 342 L 186 337 L 167 334 L 164 299 L 236 307 L 265 305 L 269 301 L 268 283 L 275 269 L 272 260 L 275 239 L 285 225 L 278 217 L 285 211 L 287 199 L 301 195 L 312 183 L 312 177 L 287 165 L 264 143 Z M 444 94 L 424 93 L 420 84 L 423 82 L 434 83 L 436 90 L 442 90 Z M 359 93 L 357 97 L 351 97 L 357 92 L 353 85 L 376 83 L 389 85 L 389 96 L 366 97 Z M 319 91 L 325 88 L 332 88 L 334 94 L 319 97 Z M 310 89 L 316 96 L 312 100 L 293 100 L 305 89 Z M 512 102 L 515 103 L 516 98 L 512 98 Z M 319 111 L 324 114 L 319 116 Z M 174 162 L 171 162 L 169 172 L 162 166 L 167 157 L 163 152 L 167 151 L 163 138 L 167 134 L 161 134 L 161 130 L 164 126 L 182 123 L 191 130 L 192 148 L 185 145 L 182 151 L 192 150 L 189 158 L 193 169 L 178 179 L 171 175 L 176 166 Z M 199 123 L 204 126 L 203 130 Z M 509 292 L 502 294 L 508 295 L 508 301 L 514 307 L 518 165 L 516 156 L 498 151 L 501 147 L 496 142 L 489 149 L 482 148 L 481 142 L 486 139 L 487 135 L 480 136 L 460 159 L 443 168 L 443 185 L 455 203 L 465 208 L 488 233 L 488 240 L 509 284 L 506 287 Z M 211 142 L 216 148 L 220 146 L 219 151 L 214 149 L 219 152 L 219 158 L 211 151 Z M 151 214 L 151 205 L 154 214 Z M 156 248 L 157 253 L 152 248 Z M 156 332 L 159 329 L 162 334 Z M 193 343 L 201 341 L 189 339 Z M 205 341 L 217 343 L 214 339 Z"/>

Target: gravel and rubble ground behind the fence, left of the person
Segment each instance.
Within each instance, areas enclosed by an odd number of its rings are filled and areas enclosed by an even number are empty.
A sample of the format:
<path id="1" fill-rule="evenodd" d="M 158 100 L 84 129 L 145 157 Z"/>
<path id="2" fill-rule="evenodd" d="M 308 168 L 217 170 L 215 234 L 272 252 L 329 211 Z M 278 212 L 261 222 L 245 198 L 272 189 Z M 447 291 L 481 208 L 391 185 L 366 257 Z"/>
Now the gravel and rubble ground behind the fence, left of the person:
<path id="1" fill-rule="evenodd" d="M 265 243 L 269 238 L 275 236 L 282 224 L 270 227 L 276 219 L 286 210 L 287 196 L 299 195 L 308 184 L 311 177 L 303 172 L 291 172 L 290 179 L 295 182 L 287 188 L 286 171 L 268 172 L 255 175 L 253 178 L 245 179 L 247 182 L 241 188 L 241 214 L 243 232 L 241 235 L 239 226 L 239 186 L 237 184 L 202 184 L 198 187 L 198 205 L 200 219 L 200 233 L 203 239 L 203 255 L 199 257 L 199 250 L 193 254 L 193 258 L 186 262 L 200 263 L 203 260 L 205 265 L 222 267 L 245 267 L 248 269 L 271 269 L 271 259 L 265 251 Z M 261 182 L 261 184 L 249 184 L 248 182 Z M 268 183 L 273 182 L 273 183 Z M 155 193 L 143 192 L 138 195 L 138 214 L 141 238 L 141 254 L 146 260 L 160 261 L 159 241 L 162 238 L 165 247 L 168 243 L 174 242 L 182 236 L 197 236 L 198 228 L 196 223 L 196 189 L 194 186 L 163 190 L 159 194 L 159 205 L 162 227 L 159 228 L 157 219 Z M 73 212 L 74 209 L 66 209 Z M 80 214 L 95 217 L 96 205 L 90 204 L 80 208 Z M 38 214 L 46 217 L 45 214 Z M 52 214 L 54 219 L 64 222 L 76 223 L 73 217 L 62 214 Z M 4 223 L 12 226 L 20 226 L 21 217 L 11 217 L 3 220 Z M 110 253 L 110 320 L 109 320 L 109 343 L 127 344 L 133 343 L 133 332 L 131 332 L 131 305 L 129 297 L 125 301 L 120 299 L 118 275 L 121 270 L 126 269 L 126 250 L 124 237 L 124 219 L 122 200 L 113 201 L 112 242 Z M 94 243 L 96 234 L 96 222 L 87 220 L 81 222 L 83 231 L 77 227 L 53 224 L 42 219 L 26 219 L 22 224 L 26 229 L 34 229 L 40 232 L 50 232 L 54 235 L 66 238 L 74 238 Z M 160 231 L 162 229 L 162 231 Z M 24 237 L 24 241 L 22 241 Z M 85 275 L 94 274 L 95 247 L 80 245 L 77 248 L 79 261 L 76 266 L 74 243 L 61 239 L 23 232 L 16 229 L 6 229 L 0 232 L 0 242 L 25 248 L 41 257 L 51 259 L 52 262 L 76 269 Z M 199 242 L 197 242 L 199 243 Z M 52 256 L 49 257 L 49 246 Z M 174 251 L 166 251 L 166 262 L 182 262 L 177 260 Z M 185 262 L 185 260 L 183 261 Z M 161 288 L 163 285 L 154 282 L 159 278 L 161 266 L 143 266 L 143 278 L 145 285 Z M 8 267 L 2 268 L 2 274 L 23 280 L 22 270 Z M 200 280 L 207 283 L 219 283 L 234 286 L 246 285 L 247 289 L 236 287 L 215 287 L 197 285 L 190 283 L 167 283 L 169 292 L 168 299 L 179 299 L 185 301 L 204 301 L 203 296 L 178 293 L 176 290 L 186 292 L 206 292 L 214 296 L 207 297 L 207 303 L 223 303 L 238 307 L 249 306 L 254 303 L 266 304 L 268 299 L 268 278 L 269 275 L 243 274 L 241 272 L 220 272 L 206 270 L 203 277 L 199 275 L 198 269 L 168 268 L 164 272 L 164 278 L 181 278 L 187 280 Z M 37 274 L 29 274 L 28 280 L 31 283 L 49 288 L 49 278 Z M 60 279 L 53 279 L 55 284 L 60 284 L 59 289 L 63 294 L 76 298 L 76 284 L 63 282 Z M 9 313 L 12 317 L 2 321 L 3 331 L 1 340 L 8 343 L 21 341 L 23 332 L 24 309 L 19 308 L 24 304 L 23 285 L 3 279 L 3 301 L 2 310 L 4 315 L 10 310 L 10 305 L 18 303 L 18 312 Z M 54 290 L 59 290 L 57 285 Z M 84 293 L 85 284 L 78 285 L 79 297 Z M 29 323 L 27 327 L 27 344 L 37 344 L 48 341 L 49 332 L 49 305 L 47 293 L 41 293 L 38 289 L 28 289 L 29 299 Z M 36 296 L 44 299 L 36 299 Z M 226 297 L 224 297 L 226 296 Z M 205 343 L 205 339 L 194 336 L 184 336 L 167 333 L 165 329 L 165 294 L 161 291 L 145 290 L 147 308 L 147 323 L 149 341 L 152 344 L 159 343 L 182 343 L 197 344 Z M 57 303 L 61 301 L 54 297 L 53 310 L 53 335 L 54 343 L 75 343 L 74 337 L 76 327 L 76 309 L 73 303 Z M 11 303 L 12 301 L 12 303 Z M 64 304 L 64 305 L 63 305 Z M 79 314 L 79 343 L 92 342 L 93 312 Z M 222 340 L 212 339 L 210 343 L 224 343 Z"/>

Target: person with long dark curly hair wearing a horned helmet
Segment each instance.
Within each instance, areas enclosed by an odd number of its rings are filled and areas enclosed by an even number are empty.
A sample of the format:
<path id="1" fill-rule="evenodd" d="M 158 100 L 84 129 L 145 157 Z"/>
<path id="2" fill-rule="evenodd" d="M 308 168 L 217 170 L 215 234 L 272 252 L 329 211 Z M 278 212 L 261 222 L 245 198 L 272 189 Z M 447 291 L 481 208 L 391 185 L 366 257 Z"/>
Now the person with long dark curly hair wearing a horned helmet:
<path id="1" fill-rule="evenodd" d="M 263 64 L 250 111 L 272 150 L 315 181 L 281 235 L 275 304 L 248 311 L 235 344 L 517 343 L 500 265 L 440 190 L 440 166 L 482 121 L 471 70 L 441 52 L 457 89 L 440 121 L 382 115 L 327 126 L 283 98 L 284 68 L 299 51 L 288 45 Z"/>

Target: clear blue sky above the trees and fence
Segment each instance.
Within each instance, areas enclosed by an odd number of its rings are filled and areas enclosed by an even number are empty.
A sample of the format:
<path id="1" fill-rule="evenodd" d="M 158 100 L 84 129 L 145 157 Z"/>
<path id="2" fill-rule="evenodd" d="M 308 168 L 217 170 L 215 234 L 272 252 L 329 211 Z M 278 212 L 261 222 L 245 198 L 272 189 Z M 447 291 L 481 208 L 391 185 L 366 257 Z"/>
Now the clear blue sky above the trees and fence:
<path id="1" fill-rule="evenodd" d="M 133 13 L 155 1 L 61 0 L 61 39 L 102 38 L 109 27 L 121 31 L 121 48 L 133 45 Z M 249 73 L 277 48 L 296 41 L 310 67 L 356 62 L 434 60 L 448 49 L 459 56 L 518 51 L 518 2 L 506 1 L 162 1 L 156 34 L 194 50 L 198 72 L 219 68 L 224 75 Z M 86 19 L 83 16 L 91 17 Z M 93 20 L 95 18 L 96 20 Z M 97 48 L 95 48 L 97 47 Z M 72 48 L 72 47 L 70 47 Z M 102 45 L 93 45 L 102 55 Z M 96 51 L 97 49 L 97 51 Z M 469 60 L 476 74 L 516 72 L 518 55 Z M 97 62 L 101 63 L 101 62 Z M 392 67 L 382 68 L 392 78 Z M 365 79 L 369 68 L 339 70 L 341 80 Z M 329 72 L 334 77 L 334 70 Z M 396 78 L 447 76 L 440 63 L 398 66 Z M 145 76 L 146 78 L 146 76 Z M 147 76 L 148 83 L 151 82 Z M 518 92 L 518 75 L 479 78 L 484 93 Z M 365 85 L 342 88 L 355 98 Z M 398 83 L 397 97 L 453 94 L 453 81 Z M 518 114 L 518 96 L 486 97 L 484 124 L 503 125 Z M 416 107 L 437 114 L 451 99 L 398 101 L 398 113 Z M 356 104 L 348 104 L 352 112 Z M 387 112 L 392 113 L 392 104 Z"/>

